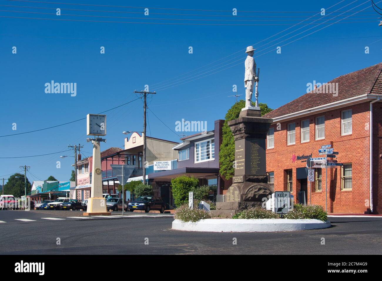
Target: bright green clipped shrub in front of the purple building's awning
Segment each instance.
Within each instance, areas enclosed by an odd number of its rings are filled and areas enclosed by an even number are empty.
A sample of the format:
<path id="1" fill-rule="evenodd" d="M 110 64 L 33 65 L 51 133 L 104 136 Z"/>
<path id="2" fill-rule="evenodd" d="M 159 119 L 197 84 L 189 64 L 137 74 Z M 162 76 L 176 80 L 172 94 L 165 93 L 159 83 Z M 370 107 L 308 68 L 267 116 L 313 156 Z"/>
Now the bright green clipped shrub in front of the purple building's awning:
<path id="1" fill-rule="evenodd" d="M 199 186 L 199 180 L 182 175 L 171 180 L 172 196 L 175 206 L 188 203 L 188 193 Z"/>

